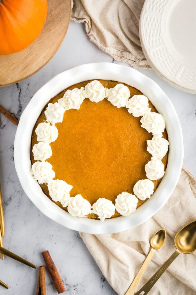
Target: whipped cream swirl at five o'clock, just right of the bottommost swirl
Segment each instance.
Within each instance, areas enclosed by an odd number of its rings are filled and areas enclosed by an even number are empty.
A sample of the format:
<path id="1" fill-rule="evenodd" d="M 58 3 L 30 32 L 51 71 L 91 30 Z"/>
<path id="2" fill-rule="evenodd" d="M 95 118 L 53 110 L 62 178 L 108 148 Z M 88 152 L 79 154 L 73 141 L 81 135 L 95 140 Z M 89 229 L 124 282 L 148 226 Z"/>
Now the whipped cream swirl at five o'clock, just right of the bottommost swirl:
<path id="1" fill-rule="evenodd" d="M 123 216 L 128 216 L 135 212 L 138 199 L 135 195 L 123 192 L 117 196 L 115 208 L 118 213 Z"/>

